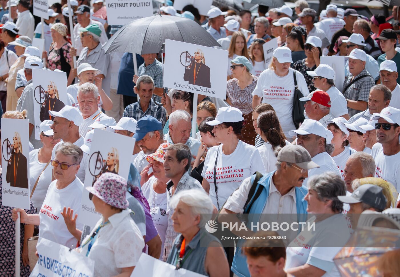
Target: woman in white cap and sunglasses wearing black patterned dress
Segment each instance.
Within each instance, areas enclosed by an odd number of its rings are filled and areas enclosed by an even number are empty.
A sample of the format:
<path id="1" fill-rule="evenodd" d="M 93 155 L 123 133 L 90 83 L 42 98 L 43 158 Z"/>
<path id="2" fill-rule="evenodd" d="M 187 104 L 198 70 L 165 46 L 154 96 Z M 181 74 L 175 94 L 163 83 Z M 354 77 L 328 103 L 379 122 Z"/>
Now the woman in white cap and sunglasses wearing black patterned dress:
<path id="1" fill-rule="evenodd" d="M 320 57 L 322 56 L 322 40 L 317 36 L 309 36 L 304 44 L 304 52 L 306 58 L 294 62 L 292 68 L 298 70 L 306 79 L 308 90 L 314 91 L 312 76 L 307 74 L 307 71 L 314 71 L 320 65 Z M 293 58 L 293 56 L 292 56 Z M 293 60 L 294 61 L 294 60 Z"/>

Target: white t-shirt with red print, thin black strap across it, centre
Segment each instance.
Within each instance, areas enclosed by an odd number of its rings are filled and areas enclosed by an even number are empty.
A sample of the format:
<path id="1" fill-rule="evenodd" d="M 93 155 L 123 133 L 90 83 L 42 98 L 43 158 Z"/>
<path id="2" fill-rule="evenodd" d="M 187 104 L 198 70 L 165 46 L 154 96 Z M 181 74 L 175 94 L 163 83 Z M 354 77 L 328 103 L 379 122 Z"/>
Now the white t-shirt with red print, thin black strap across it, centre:
<path id="1" fill-rule="evenodd" d="M 220 148 L 219 151 L 218 148 Z M 221 209 L 226 199 L 240 186 L 244 179 L 250 177 L 256 171 L 265 173 L 265 168 L 257 148 L 243 141 L 238 141 L 236 149 L 230 155 L 222 153 L 222 145 L 211 147 L 207 152 L 201 175 L 210 183 L 210 197 L 217 208 L 214 186 L 214 165 L 217 151 L 216 183 L 218 203 Z"/>

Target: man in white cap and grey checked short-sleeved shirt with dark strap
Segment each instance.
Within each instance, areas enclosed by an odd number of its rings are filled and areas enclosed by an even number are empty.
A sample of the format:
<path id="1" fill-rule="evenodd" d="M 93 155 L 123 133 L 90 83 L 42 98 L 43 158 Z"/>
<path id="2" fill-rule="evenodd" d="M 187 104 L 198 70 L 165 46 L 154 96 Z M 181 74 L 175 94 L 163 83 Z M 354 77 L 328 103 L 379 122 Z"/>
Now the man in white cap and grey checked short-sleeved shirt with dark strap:
<path id="1" fill-rule="evenodd" d="M 348 56 L 350 74 L 344 79 L 343 95 L 347 101 L 349 116 L 368 108 L 368 94 L 375 81 L 365 69 L 366 54 L 354 49 Z M 369 119 L 369 118 L 368 118 Z"/>

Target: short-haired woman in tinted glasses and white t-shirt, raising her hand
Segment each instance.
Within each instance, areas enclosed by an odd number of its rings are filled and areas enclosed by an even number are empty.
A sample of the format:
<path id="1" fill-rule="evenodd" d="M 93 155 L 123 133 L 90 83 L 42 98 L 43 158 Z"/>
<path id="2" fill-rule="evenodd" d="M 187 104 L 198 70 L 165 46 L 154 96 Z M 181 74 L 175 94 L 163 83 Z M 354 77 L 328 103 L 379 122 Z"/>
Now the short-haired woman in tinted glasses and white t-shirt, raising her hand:
<path id="1" fill-rule="evenodd" d="M 72 143 L 58 145 L 51 161 L 55 178 L 48 187 L 39 215 L 28 215 L 23 209 L 13 209 L 12 218 L 17 220 L 20 212 L 21 223 L 39 225 L 39 238 L 45 238 L 69 248 L 76 247 L 80 233 L 72 235 L 60 215 L 65 207 L 77 211 L 79 215 L 83 183 L 76 177 L 82 160 L 82 150 Z M 54 220 L 57 218 L 57 220 Z M 77 223 L 78 229 L 83 225 Z"/>

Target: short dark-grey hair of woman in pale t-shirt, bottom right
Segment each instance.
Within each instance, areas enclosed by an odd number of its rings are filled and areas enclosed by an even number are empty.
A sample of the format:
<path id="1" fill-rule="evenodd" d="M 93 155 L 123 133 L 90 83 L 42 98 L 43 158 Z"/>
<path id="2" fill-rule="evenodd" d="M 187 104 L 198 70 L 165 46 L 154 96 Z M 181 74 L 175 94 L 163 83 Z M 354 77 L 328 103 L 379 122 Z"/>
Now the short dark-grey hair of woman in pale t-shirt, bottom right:
<path id="1" fill-rule="evenodd" d="M 332 211 L 342 213 L 343 203 L 338 199 L 338 196 L 346 195 L 346 186 L 340 175 L 332 171 L 313 175 L 308 179 L 307 186 L 309 190 L 317 193 L 320 201 L 332 200 Z"/>

